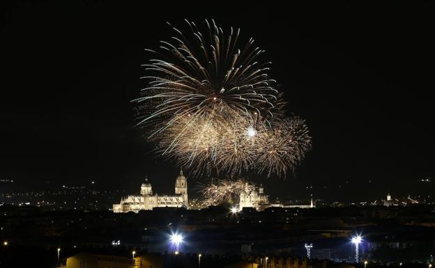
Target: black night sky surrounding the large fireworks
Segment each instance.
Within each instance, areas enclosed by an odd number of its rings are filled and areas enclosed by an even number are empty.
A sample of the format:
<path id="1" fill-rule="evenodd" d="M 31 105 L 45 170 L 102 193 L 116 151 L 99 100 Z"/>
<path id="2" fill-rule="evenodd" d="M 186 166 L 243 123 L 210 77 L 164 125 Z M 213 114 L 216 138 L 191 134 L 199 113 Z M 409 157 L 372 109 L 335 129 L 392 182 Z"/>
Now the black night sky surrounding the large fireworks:
<path id="1" fill-rule="evenodd" d="M 433 4 L 16 1 L 1 10 L 0 178 L 137 191 L 148 174 L 171 193 L 177 168 L 133 127 L 130 100 L 144 86 L 144 48 L 184 18 L 254 37 L 288 111 L 307 120 L 312 152 L 295 177 L 257 178 L 269 194 L 373 199 L 419 193 L 416 180 L 434 176 Z"/>

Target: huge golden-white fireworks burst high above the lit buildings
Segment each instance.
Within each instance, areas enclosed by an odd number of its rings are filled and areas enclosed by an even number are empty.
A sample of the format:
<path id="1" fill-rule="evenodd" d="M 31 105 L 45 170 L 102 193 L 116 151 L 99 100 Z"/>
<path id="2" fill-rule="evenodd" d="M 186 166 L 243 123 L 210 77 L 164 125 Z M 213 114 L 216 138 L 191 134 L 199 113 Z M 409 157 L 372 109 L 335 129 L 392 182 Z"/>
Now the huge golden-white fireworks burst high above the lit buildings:
<path id="1" fill-rule="evenodd" d="M 285 118 L 282 93 L 268 77 L 270 62 L 251 38 L 239 45 L 240 29 L 227 35 L 206 20 L 202 34 L 188 22 L 188 34 L 161 41 L 144 67 L 148 86 L 134 100 L 145 108 L 138 125 L 148 138 L 193 175 L 243 171 L 286 175 L 311 148 L 303 120 Z M 170 24 L 169 24 L 170 25 Z"/>

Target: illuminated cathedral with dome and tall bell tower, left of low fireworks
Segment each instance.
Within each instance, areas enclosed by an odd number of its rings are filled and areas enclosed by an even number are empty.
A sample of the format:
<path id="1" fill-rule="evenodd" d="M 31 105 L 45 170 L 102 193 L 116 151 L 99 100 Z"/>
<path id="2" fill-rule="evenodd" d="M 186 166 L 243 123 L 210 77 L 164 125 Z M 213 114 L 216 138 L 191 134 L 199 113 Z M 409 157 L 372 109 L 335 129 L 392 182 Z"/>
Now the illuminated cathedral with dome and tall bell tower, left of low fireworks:
<path id="1" fill-rule="evenodd" d="M 139 212 L 140 210 L 153 210 L 154 207 L 188 207 L 188 180 L 183 175 L 183 170 L 176 178 L 175 195 L 153 195 L 151 183 L 148 178 L 142 183 L 139 196 L 127 196 L 121 198 L 121 203 L 113 205 L 116 213 Z"/>

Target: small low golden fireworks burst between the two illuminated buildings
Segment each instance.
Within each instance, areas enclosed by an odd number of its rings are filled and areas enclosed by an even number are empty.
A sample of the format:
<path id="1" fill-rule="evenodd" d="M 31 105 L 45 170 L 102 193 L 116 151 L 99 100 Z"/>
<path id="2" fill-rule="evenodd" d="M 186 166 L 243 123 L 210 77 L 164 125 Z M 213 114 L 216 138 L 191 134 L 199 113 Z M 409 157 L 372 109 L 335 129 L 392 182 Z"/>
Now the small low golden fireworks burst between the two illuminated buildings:
<path id="1" fill-rule="evenodd" d="M 204 200 L 205 207 L 209 205 L 220 205 L 222 203 L 237 203 L 240 194 L 245 191 L 250 193 L 255 189 L 255 184 L 247 180 L 217 180 L 208 184 L 199 184 L 199 192 Z"/>

